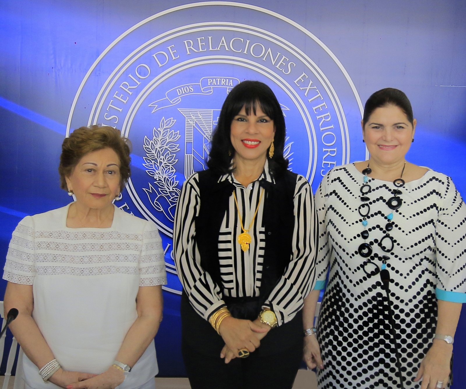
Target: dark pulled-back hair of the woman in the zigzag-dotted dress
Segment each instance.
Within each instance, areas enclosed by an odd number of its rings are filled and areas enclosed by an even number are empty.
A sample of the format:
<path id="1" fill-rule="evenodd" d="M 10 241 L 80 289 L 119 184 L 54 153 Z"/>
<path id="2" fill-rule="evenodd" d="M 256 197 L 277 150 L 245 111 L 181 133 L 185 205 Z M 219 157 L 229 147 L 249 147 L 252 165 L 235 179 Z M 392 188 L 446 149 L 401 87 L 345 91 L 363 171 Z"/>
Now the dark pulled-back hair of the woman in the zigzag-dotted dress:
<path id="1" fill-rule="evenodd" d="M 411 102 L 404 92 L 395 88 L 384 88 L 374 92 L 367 99 L 364 105 L 363 126 L 369 121 L 370 115 L 380 107 L 394 105 L 400 108 L 407 116 L 409 122 L 413 124 L 413 115 Z"/>

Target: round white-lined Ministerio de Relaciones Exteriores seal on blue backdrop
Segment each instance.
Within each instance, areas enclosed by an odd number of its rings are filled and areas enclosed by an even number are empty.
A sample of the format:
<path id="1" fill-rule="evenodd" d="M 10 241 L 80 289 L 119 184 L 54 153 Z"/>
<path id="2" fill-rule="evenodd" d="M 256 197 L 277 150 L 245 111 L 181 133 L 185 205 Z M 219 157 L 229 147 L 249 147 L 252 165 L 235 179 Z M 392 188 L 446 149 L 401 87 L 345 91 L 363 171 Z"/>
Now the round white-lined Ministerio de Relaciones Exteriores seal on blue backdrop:
<path id="1" fill-rule="evenodd" d="M 174 7 L 125 31 L 89 69 L 69 114 L 67 135 L 88 123 L 130 139 L 131 179 L 116 204 L 157 224 L 169 272 L 164 289 L 174 293 L 181 291 L 171 254 L 180 188 L 205 168 L 220 107 L 242 80 L 274 90 L 290 169 L 314 190 L 329 169 L 363 157 L 351 142 L 360 130 L 349 130 L 358 128 L 361 101 L 335 55 L 294 21 L 236 2 Z"/>

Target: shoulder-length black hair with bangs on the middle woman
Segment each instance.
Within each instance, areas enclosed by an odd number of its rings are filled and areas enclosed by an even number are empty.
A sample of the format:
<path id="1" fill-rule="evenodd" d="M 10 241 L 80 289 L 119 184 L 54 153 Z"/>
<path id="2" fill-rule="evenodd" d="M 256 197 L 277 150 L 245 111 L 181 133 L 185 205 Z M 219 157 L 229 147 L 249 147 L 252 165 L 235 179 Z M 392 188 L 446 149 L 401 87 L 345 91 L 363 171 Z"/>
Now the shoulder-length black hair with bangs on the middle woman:
<path id="1" fill-rule="evenodd" d="M 285 145 L 285 119 L 280 104 L 274 92 L 266 84 L 260 81 L 243 81 L 234 87 L 220 111 L 217 127 L 213 131 L 211 150 L 207 166 L 219 174 L 231 171 L 231 161 L 234 148 L 230 140 L 230 130 L 233 118 L 245 107 L 246 114 L 251 110 L 256 114 L 256 106 L 270 119 L 274 121 L 274 156 L 267 159 L 270 171 L 275 176 L 282 174 L 288 168 L 288 160 L 283 157 Z M 231 155 L 229 155 L 231 154 Z"/>

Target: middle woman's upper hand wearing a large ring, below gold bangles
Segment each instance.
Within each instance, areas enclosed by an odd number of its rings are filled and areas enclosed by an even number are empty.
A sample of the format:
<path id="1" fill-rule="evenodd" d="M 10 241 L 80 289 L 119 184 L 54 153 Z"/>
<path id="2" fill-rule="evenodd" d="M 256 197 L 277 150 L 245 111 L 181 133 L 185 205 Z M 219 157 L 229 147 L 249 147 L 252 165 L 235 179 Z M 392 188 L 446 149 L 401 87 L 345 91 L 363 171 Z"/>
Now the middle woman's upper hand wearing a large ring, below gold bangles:
<path id="1" fill-rule="evenodd" d="M 234 353 L 240 349 L 248 349 L 252 353 L 260 345 L 255 334 L 267 333 L 268 330 L 250 320 L 235 319 L 232 316 L 226 317 L 219 327 L 226 346 Z"/>

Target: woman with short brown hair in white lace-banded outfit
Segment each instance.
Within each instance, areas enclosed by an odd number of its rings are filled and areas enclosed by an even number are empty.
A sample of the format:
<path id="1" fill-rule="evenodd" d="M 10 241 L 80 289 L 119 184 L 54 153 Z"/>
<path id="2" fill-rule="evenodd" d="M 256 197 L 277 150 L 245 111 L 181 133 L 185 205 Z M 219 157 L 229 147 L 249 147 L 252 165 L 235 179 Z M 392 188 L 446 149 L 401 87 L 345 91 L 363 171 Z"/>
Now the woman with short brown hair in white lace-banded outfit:
<path id="1" fill-rule="evenodd" d="M 59 173 L 75 201 L 20 221 L 3 275 L 26 388 L 154 388 L 164 253 L 154 223 L 113 205 L 129 142 L 80 127 L 63 141 Z"/>

